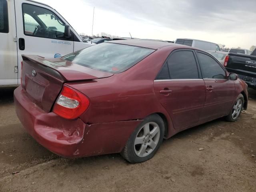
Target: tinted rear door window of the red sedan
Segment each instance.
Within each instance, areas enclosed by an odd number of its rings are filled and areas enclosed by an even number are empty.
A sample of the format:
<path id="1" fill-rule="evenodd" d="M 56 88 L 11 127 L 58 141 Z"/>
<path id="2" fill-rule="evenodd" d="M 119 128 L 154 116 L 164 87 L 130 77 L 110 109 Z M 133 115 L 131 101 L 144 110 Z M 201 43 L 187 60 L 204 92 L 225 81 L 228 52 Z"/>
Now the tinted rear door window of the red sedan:
<path id="1" fill-rule="evenodd" d="M 198 79 L 196 59 L 192 51 L 174 52 L 167 61 L 171 79 Z"/>

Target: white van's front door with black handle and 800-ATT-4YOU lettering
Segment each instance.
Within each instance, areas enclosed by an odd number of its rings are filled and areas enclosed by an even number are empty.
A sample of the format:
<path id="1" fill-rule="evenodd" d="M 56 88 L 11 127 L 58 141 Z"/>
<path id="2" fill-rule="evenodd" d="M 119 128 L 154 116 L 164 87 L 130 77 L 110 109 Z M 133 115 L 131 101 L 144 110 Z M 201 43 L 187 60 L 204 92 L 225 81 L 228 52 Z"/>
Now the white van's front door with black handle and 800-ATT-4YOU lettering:
<path id="1" fill-rule="evenodd" d="M 22 61 L 22 54 L 54 58 L 74 51 L 72 28 L 71 35 L 64 36 L 68 23 L 54 9 L 32 1 L 15 0 L 15 10 L 18 63 Z"/>

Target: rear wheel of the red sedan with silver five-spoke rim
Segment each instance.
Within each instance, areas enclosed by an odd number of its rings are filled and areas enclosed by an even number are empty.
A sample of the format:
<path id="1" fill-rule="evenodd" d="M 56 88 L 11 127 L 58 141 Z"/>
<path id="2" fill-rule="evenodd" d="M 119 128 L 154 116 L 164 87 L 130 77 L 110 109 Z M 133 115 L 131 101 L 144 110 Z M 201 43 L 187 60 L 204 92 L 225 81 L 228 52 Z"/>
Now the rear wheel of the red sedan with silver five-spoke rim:
<path id="1" fill-rule="evenodd" d="M 134 130 L 121 155 L 130 163 L 151 159 L 164 138 L 164 121 L 158 114 L 146 117 Z"/>

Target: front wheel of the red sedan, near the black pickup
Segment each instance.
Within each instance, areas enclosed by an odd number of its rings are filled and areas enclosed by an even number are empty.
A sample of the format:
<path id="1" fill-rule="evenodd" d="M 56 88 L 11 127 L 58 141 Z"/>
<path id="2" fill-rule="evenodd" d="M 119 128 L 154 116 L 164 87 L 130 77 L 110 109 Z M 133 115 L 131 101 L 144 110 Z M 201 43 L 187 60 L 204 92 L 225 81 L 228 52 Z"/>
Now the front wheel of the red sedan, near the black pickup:
<path id="1" fill-rule="evenodd" d="M 226 116 L 226 120 L 229 122 L 235 122 L 238 120 L 242 109 L 244 106 L 244 96 L 242 94 L 239 94 L 238 97 L 236 98 L 236 102 L 234 103 L 230 113 L 228 116 Z"/>

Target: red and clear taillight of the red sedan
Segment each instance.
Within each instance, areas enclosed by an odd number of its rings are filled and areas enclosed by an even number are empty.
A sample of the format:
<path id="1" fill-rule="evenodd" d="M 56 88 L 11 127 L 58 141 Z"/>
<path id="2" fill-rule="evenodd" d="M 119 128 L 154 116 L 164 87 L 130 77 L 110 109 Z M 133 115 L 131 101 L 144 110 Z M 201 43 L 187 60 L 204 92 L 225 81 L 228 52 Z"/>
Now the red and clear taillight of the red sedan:
<path id="1" fill-rule="evenodd" d="M 86 111 L 89 104 L 90 101 L 84 94 L 64 85 L 53 112 L 66 119 L 76 119 Z"/>

